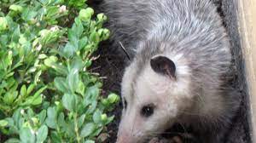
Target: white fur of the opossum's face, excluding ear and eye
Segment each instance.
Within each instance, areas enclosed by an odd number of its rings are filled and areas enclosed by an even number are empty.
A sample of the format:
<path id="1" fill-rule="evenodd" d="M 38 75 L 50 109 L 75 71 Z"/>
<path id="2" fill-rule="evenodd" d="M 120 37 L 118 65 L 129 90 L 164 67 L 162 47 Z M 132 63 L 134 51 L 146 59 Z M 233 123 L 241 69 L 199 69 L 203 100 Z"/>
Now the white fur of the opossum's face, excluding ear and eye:
<path id="1" fill-rule="evenodd" d="M 123 98 L 127 100 L 128 107 L 123 112 L 119 136 L 127 137 L 125 134 L 130 134 L 131 140 L 143 140 L 146 134 L 163 131 L 160 127 L 172 123 L 172 118 L 177 117 L 180 112 L 178 110 L 189 106 L 187 103 L 183 103 L 185 99 L 193 98 L 192 94 L 189 94 L 191 74 L 189 66 L 182 54 L 166 56 L 177 65 L 176 80 L 154 72 L 149 62 L 140 76 L 135 77 L 135 81 L 132 81 L 136 75 L 134 65 L 126 69 L 122 94 Z M 140 109 L 150 103 L 154 103 L 156 106 L 153 117 L 142 117 Z"/>

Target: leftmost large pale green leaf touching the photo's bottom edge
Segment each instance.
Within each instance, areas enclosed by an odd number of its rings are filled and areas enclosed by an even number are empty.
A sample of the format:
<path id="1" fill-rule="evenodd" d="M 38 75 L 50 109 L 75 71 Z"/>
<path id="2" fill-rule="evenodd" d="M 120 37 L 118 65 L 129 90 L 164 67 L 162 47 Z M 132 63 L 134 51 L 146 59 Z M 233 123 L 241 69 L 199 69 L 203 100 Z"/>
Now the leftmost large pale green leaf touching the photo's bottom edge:
<path id="1" fill-rule="evenodd" d="M 22 128 L 20 130 L 20 141 L 22 143 L 34 143 L 36 141 L 35 134 L 29 128 Z"/>

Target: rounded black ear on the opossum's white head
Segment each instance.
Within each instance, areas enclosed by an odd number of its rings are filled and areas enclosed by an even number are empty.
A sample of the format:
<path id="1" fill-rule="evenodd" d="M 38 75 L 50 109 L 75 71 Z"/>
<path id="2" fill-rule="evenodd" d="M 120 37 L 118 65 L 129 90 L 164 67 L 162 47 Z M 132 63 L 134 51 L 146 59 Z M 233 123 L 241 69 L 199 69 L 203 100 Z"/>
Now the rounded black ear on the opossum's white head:
<path id="1" fill-rule="evenodd" d="M 172 60 L 165 56 L 155 56 L 150 60 L 150 66 L 154 72 L 162 75 L 167 75 L 172 78 L 175 77 L 176 66 Z"/>

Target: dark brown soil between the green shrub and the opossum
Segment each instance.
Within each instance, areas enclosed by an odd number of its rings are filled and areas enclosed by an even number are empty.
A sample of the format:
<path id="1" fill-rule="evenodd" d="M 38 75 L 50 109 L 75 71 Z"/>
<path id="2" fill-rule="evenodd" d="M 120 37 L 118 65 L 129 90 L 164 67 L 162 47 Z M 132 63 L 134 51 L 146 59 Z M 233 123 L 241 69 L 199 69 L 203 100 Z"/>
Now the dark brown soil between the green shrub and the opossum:
<path id="1" fill-rule="evenodd" d="M 107 96 L 110 93 L 120 94 L 121 78 L 125 69 L 125 58 L 123 54 L 119 54 L 119 50 L 110 49 L 109 41 L 100 45 L 100 49 L 96 52 L 96 55 L 100 57 L 93 62 L 93 72 L 97 72 L 101 75 L 103 81 L 102 94 Z M 116 140 L 116 134 L 118 131 L 119 121 L 121 117 L 122 104 L 115 107 L 111 115 L 114 115 L 114 122 L 108 125 L 108 140 L 106 143 L 113 143 Z"/>

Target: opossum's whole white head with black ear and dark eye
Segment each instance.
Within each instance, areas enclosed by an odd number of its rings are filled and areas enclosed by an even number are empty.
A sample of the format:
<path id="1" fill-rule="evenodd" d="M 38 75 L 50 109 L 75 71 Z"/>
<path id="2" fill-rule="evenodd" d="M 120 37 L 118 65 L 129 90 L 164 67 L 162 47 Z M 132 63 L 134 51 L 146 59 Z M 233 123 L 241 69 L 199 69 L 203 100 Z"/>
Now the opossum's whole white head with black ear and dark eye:
<path id="1" fill-rule="evenodd" d="M 122 81 L 118 143 L 140 143 L 161 134 L 191 105 L 190 71 L 182 55 L 154 55 L 143 63 L 138 59 L 126 68 Z"/>

